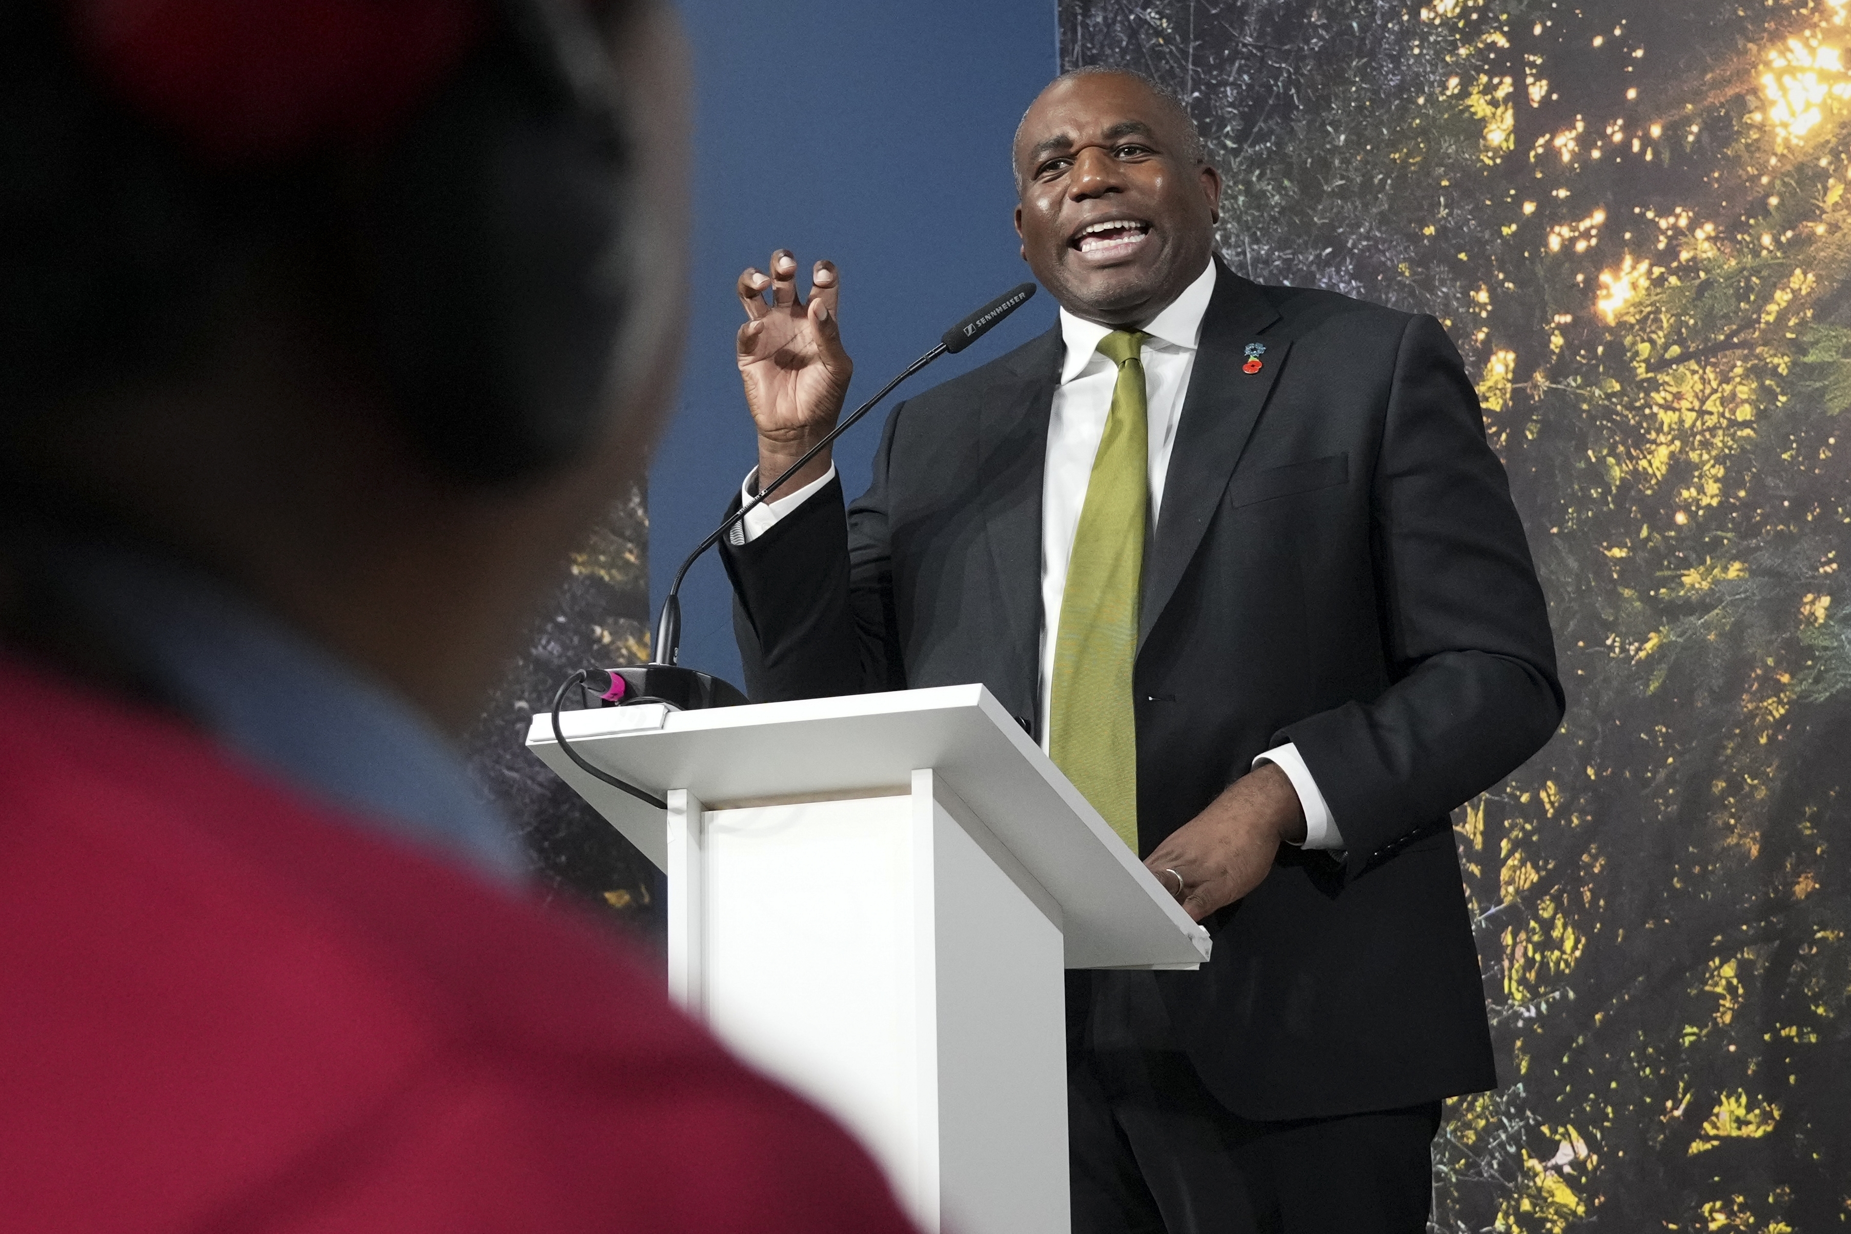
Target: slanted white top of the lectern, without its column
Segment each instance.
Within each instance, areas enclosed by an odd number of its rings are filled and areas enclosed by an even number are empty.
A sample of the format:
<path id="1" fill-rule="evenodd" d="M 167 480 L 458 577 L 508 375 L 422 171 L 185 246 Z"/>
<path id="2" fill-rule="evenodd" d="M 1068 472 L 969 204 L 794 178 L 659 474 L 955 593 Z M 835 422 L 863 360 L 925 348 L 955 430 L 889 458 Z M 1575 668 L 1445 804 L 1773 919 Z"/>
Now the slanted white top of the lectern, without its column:
<path id="1" fill-rule="evenodd" d="M 1209 936 L 981 685 L 848 694 L 676 712 L 661 705 L 570 710 L 572 749 L 657 796 L 705 808 L 911 792 L 931 770 L 1061 905 L 1068 968 L 1194 966 Z M 666 860 L 665 816 L 559 751 L 552 718 L 528 746 L 650 860 Z"/>

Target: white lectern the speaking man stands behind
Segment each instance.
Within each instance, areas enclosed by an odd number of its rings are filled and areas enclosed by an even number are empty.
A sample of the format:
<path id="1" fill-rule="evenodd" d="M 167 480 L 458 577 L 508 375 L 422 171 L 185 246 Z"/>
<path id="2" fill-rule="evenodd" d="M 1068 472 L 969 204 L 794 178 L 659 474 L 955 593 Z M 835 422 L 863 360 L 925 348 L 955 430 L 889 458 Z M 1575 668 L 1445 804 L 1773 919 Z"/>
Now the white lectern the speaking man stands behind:
<path id="1" fill-rule="evenodd" d="M 1196 968 L 1209 936 L 983 686 L 572 710 L 668 871 L 668 984 L 833 1112 L 926 1230 L 1066 1234 L 1062 968 Z"/>

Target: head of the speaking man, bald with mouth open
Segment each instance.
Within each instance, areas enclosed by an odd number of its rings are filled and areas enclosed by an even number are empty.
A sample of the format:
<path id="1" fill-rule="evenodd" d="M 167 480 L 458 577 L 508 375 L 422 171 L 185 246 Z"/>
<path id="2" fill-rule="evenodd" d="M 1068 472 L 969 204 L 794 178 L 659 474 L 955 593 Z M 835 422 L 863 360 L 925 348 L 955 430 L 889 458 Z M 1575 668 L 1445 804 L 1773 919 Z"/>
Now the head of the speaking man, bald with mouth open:
<path id="1" fill-rule="evenodd" d="M 1068 313 L 1142 326 L 1209 265 L 1222 178 L 1188 159 L 1183 126 L 1142 81 L 1107 72 L 1059 81 L 1029 107 L 1016 233 Z"/>

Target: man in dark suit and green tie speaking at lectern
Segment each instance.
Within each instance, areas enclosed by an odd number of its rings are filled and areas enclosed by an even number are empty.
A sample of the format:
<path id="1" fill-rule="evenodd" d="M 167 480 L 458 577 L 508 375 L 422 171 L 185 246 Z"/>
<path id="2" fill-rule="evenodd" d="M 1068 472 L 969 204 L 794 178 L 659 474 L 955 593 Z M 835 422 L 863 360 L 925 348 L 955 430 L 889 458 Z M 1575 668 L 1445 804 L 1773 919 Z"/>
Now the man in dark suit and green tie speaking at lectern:
<path id="1" fill-rule="evenodd" d="M 1075 1230 L 1422 1230 L 1440 1099 L 1496 1084 L 1447 814 L 1562 714 L 1472 383 L 1431 316 L 1222 266 L 1137 76 L 1057 80 L 1014 165 L 1061 326 L 894 409 L 853 505 L 822 457 L 753 511 L 750 690 L 981 681 L 1211 927 L 1070 981 Z M 840 409 L 839 276 L 739 290 L 770 477 Z"/>

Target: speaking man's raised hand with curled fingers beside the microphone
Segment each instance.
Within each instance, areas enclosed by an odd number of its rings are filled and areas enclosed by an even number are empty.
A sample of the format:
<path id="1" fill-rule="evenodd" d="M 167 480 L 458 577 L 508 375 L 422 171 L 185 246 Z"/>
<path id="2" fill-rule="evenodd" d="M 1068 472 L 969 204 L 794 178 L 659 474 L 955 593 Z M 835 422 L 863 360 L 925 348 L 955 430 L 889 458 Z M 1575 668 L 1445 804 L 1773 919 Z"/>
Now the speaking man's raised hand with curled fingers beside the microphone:
<path id="1" fill-rule="evenodd" d="M 764 292 L 770 290 L 770 303 Z M 816 444 L 842 414 L 855 363 L 842 350 L 835 315 L 840 278 L 835 265 L 811 270 L 811 298 L 798 296 L 798 259 L 779 248 L 766 276 L 752 266 L 739 276 L 746 324 L 739 327 L 739 376 L 746 407 L 759 427 L 759 483 L 768 485 Z M 829 470 L 829 451 L 770 496 L 801 488 Z"/>

